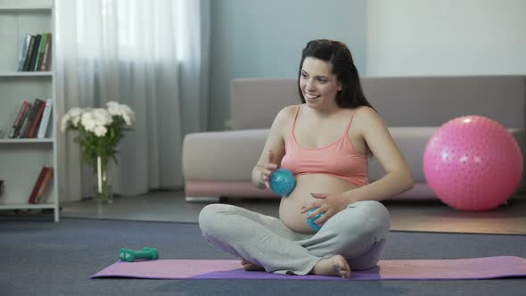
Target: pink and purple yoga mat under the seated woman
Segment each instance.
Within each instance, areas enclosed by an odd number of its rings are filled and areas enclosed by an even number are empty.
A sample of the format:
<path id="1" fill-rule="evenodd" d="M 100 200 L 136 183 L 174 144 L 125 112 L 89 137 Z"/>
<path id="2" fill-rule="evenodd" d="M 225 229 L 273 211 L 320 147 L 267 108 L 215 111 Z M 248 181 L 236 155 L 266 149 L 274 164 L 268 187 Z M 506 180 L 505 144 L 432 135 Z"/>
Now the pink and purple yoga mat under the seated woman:
<path id="1" fill-rule="evenodd" d="M 91 278 L 347 280 L 325 275 L 275 275 L 244 271 L 239 260 L 171 259 L 118 261 Z M 526 259 L 498 256 L 473 259 L 382 260 L 372 269 L 353 271 L 351 280 L 471 280 L 526 276 Z"/>

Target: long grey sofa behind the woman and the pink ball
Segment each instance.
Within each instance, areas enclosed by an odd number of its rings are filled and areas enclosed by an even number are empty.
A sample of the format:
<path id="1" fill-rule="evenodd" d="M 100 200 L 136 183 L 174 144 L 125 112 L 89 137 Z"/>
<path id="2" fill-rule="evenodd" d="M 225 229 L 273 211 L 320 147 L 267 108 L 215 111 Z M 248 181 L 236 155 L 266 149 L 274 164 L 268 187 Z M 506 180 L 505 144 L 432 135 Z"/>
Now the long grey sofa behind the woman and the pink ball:
<path id="1" fill-rule="evenodd" d="M 380 113 L 406 156 L 415 187 L 394 199 L 435 199 L 423 174 L 423 151 L 446 121 L 477 114 L 495 119 L 525 151 L 526 77 L 362 78 L 369 102 Z M 268 128 L 284 106 L 300 103 L 292 78 L 237 78 L 231 82 L 232 130 L 185 136 L 183 172 L 187 201 L 201 198 L 277 198 L 251 185 Z M 382 177 L 377 160 L 368 161 L 369 181 Z M 524 192 L 524 174 L 517 193 Z"/>

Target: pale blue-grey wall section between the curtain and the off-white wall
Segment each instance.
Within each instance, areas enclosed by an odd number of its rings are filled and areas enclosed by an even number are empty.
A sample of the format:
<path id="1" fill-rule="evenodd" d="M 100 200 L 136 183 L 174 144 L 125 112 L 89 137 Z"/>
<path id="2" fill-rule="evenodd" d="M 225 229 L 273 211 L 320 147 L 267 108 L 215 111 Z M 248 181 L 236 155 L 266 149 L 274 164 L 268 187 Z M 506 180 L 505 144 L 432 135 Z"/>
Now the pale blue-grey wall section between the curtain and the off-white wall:
<path id="1" fill-rule="evenodd" d="M 366 69 L 366 0 L 212 0 L 209 129 L 230 118 L 232 78 L 295 78 L 316 38 L 349 45 Z"/>

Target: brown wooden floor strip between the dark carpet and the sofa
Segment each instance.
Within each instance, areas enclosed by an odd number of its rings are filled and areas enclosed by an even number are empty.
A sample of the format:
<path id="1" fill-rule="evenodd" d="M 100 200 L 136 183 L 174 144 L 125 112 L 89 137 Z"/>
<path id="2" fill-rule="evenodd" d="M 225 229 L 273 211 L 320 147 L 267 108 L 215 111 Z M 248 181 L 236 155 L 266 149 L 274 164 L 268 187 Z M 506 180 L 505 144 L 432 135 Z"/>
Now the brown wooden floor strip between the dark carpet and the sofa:
<path id="1" fill-rule="evenodd" d="M 278 201 L 228 200 L 228 203 L 277 217 Z M 197 222 L 208 203 L 185 202 L 182 192 L 116 198 L 111 205 L 93 201 L 62 204 L 62 217 Z M 440 201 L 386 201 L 392 231 L 467 234 L 526 234 L 526 199 L 513 199 L 496 210 L 455 210 Z"/>

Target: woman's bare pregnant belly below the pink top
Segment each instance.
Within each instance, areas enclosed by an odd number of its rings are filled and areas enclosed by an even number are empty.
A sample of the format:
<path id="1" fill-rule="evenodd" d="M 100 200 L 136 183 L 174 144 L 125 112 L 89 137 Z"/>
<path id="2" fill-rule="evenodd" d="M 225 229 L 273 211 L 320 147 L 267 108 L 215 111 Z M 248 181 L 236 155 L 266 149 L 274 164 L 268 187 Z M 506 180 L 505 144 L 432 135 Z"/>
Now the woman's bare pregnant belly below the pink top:
<path id="1" fill-rule="evenodd" d="M 307 174 L 296 177 L 296 187 L 287 196 L 282 197 L 279 205 L 279 218 L 295 232 L 314 233 L 307 224 L 307 213 L 301 214 L 301 207 L 318 201 L 310 193 L 343 193 L 358 188 L 341 178 L 325 174 Z"/>

